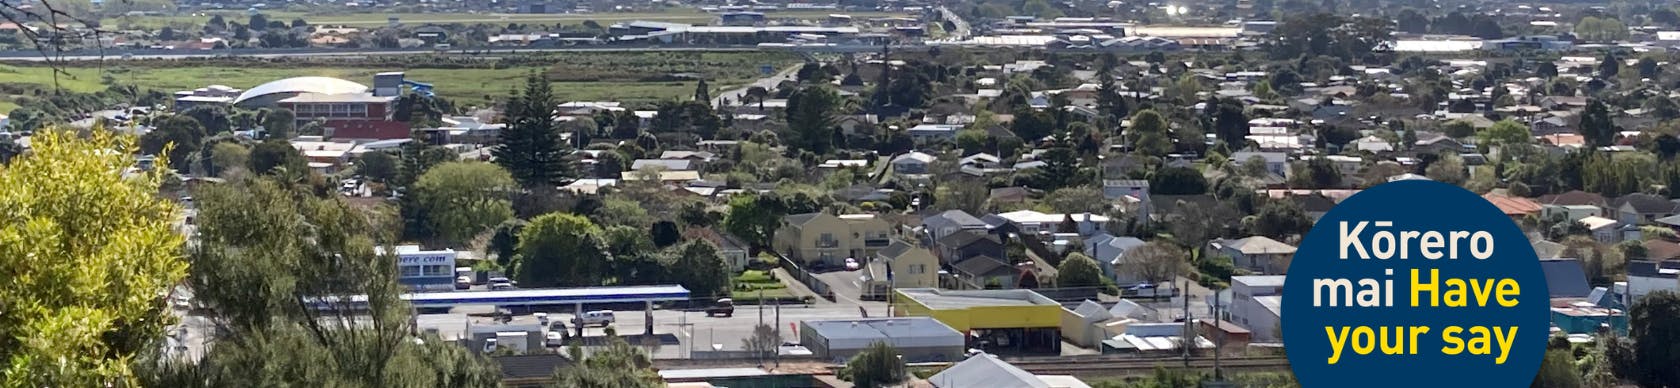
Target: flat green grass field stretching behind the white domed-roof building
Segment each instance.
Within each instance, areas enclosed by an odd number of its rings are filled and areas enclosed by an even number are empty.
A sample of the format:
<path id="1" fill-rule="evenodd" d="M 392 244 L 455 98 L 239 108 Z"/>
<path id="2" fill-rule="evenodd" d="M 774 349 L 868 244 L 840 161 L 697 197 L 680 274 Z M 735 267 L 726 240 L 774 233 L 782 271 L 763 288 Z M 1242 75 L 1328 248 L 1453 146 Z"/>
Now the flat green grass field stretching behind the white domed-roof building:
<path id="1" fill-rule="evenodd" d="M 467 69 L 393 69 L 376 66 L 343 66 L 336 62 L 272 64 L 193 64 L 193 62 L 133 62 L 121 66 L 74 67 L 59 76 L 59 87 L 74 92 L 106 89 L 104 76 L 118 84 L 134 84 L 139 89 L 175 92 L 223 84 L 249 89 L 269 81 L 302 76 L 341 77 L 371 84 L 373 74 L 405 71 L 407 77 L 430 82 L 437 94 L 459 107 L 486 106 L 524 86 L 531 72 L 548 74 L 554 81 L 554 96 L 561 101 L 625 101 L 654 102 L 682 99 L 694 94 L 697 81 L 669 81 L 670 74 L 701 74 L 714 91 L 751 82 L 758 67 L 769 64 L 785 69 L 800 59 L 791 54 L 771 52 L 706 52 L 706 54 L 564 54 L 546 57 L 529 66 L 494 69 L 480 64 Z M 0 113 L 15 109 L 10 102 L 20 89 L 54 87 L 52 71 L 37 66 L 0 66 Z M 10 92 L 8 92 L 10 91 Z"/>

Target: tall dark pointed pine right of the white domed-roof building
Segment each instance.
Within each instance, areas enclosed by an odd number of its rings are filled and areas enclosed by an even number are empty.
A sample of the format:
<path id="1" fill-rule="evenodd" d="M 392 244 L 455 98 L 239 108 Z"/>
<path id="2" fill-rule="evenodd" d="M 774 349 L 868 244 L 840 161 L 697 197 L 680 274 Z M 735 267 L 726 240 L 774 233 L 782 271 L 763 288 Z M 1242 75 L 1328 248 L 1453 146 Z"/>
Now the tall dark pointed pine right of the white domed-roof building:
<path id="1" fill-rule="evenodd" d="M 524 92 L 507 101 L 507 128 L 491 149 L 496 165 L 507 168 L 524 186 L 558 185 L 571 176 L 566 144 L 554 126 L 554 91 L 539 74 L 526 77 Z"/>

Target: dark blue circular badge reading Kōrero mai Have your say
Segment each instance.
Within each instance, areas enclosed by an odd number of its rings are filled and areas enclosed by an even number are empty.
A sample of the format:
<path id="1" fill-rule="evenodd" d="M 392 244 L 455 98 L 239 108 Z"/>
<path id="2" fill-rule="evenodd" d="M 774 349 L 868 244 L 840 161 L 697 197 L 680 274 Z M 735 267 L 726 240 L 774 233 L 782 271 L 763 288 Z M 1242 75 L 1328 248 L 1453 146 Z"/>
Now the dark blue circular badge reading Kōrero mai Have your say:
<path id="1" fill-rule="evenodd" d="M 1284 281 L 1280 326 L 1305 388 L 1527 386 L 1549 304 L 1515 222 L 1463 188 L 1406 180 L 1312 227 Z"/>

